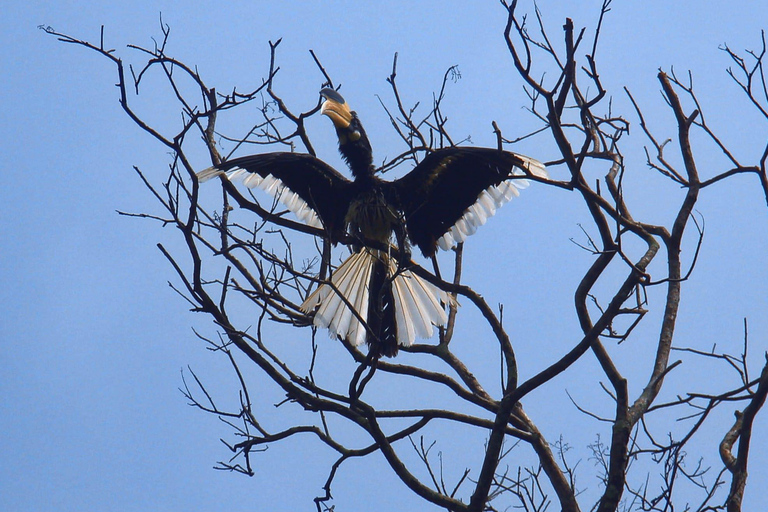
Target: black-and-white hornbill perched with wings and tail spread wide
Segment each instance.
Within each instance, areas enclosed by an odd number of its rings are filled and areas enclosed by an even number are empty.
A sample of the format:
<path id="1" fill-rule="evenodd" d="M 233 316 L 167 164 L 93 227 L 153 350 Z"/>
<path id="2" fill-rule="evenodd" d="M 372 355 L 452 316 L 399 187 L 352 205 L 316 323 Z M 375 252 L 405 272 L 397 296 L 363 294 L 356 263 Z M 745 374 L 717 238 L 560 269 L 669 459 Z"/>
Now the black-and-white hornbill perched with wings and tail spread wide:
<path id="1" fill-rule="evenodd" d="M 221 162 L 198 173 L 242 180 L 261 188 L 299 220 L 322 228 L 334 244 L 356 240 L 352 254 L 301 305 L 314 324 L 374 356 L 394 356 L 398 344 L 432 336 L 445 325 L 454 299 L 408 270 L 407 238 L 426 257 L 473 234 L 496 209 L 527 186 L 525 176 L 546 178 L 532 158 L 490 148 L 450 147 L 429 153 L 395 181 L 376 176 L 373 152 L 357 114 L 333 89 L 323 89 L 321 113 L 336 128 L 339 152 L 352 171 L 345 178 L 320 159 L 301 153 L 267 153 Z M 400 260 L 385 250 L 393 235 Z M 405 257 L 403 257 L 403 255 Z M 405 260 L 405 264 L 403 264 Z M 354 311 L 350 309 L 354 308 Z"/>

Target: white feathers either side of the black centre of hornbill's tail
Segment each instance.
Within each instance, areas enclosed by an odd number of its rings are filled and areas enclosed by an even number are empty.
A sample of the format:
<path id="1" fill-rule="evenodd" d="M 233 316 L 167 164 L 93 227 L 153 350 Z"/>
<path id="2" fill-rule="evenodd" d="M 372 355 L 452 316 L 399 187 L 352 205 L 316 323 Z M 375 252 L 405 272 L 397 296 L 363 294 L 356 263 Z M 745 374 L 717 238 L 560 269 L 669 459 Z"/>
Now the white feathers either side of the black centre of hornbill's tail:
<path id="1" fill-rule="evenodd" d="M 347 339 L 355 346 L 366 340 L 363 322 L 368 321 L 371 272 L 378 258 L 387 258 L 390 277 L 397 272 L 394 258 L 379 255 L 379 251 L 364 248 L 347 258 L 331 276 L 334 290 L 322 284 L 301 305 L 310 313 L 315 308 L 314 324 L 330 331 L 332 336 Z M 433 326 L 445 325 L 448 315 L 444 305 L 456 303 L 447 292 L 420 278 L 409 270 L 392 281 L 395 302 L 397 340 L 401 346 L 412 345 L 416 337 L 429 338 Z M 344 299 L 346 299 L 346 301 Z M 354 307 L 355 315 L 347 303 Z"/>

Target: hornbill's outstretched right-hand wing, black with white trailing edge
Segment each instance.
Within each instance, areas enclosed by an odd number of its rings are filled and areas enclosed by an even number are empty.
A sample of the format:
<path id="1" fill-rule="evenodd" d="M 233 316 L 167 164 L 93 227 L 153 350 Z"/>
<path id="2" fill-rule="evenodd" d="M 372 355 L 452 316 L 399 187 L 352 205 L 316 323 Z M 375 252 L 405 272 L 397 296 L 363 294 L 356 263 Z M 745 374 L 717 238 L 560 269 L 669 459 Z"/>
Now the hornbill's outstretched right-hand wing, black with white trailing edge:
<path id="1" fill-rule="evenodd" d="M 526 175 L 547 177 L 544 164 L 490 148 L 453 147 L 429 154 L 393 182 L 408 237 L 429 257 L 472 235 L 496 209 L 528 186 Z"/>

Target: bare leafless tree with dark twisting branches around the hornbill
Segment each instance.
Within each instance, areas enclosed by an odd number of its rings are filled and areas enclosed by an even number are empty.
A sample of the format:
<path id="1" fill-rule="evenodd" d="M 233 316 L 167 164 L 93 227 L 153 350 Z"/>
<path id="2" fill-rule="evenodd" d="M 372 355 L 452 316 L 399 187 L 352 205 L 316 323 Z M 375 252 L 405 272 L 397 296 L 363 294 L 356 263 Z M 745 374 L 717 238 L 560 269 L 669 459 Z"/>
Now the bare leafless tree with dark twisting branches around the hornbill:
<path id="1" fill-rule="evenodd" d="M 477 309 L 493 333 L 497 361 L 473 368 L 457 356 L 454 327 L 461 315 L 452 307 L 449 323 L 440 330 L 436 342 L 402 349 L 418 357 L 408 358 L 407 362 L 378 360 L 342 340 L 348 357 L 335 364 L 348 373 L 316 375 L 323 354 L 315 343 L 311 319 L 299 305 L 313 287 L 325 282 L 336 264 L 337 253 L 322 230 L 291 220 L 278 203 L 244 194 L 227 180 L 221 181 L 220 201 L 210 204 L 201 199 L 196 179 L 201 167 L 190 156 L 204 148 L 210 162 L 216 164 L 221 161 L 223 145 L 232 152 L 244 146 L 257 146 L 257 150 L 268 146 L 314 154 L 305 120 L 317 114 L 320 101 L 318 98 L 295 106 L 281 98 L 273 80 L 279 72 L 280 41 L 270 43 L 271 63 L 261 85 L 247 92 L 221 93 L 194 66 L 167 54 L 170 29 L 162 22 L 163 37 L 154 47 L 129 46 L 144 61 L 140 67 L 127 68 L 118 53 L 106 45 L 103 30 L 100 41 L 89 42 L 44 28 L 60 41 L 87 48 L 111 61 L 117 70 L 123 110 L 172 154 L 170 170 L 162 180 L 136 169 L 161 213 L 126 215 L 178 228 L 183 251 L 173 253 L 163 245 L 158 247 L 176 272 L 179 294 L 195 311 L 209 315 L 218 329 L 217 336 L 200 334 L 201 340 L 231 362 L 240 383 L 238 405 L 224 408 L 192 371 L 184 382 L 183 390 L 191 404 L 232 427 L 232 458 L 221 462 L 221 469 L 252 475 L 253 465 L 257 464 L 254 459 L 262 447 L 289 443 L 295 436 L 309 434 L 337 454 L 322 492 L 315 499 L 318 510 L 330 510 L 334 479 L 346 461 L 377 452 L 413 493 L 451 511 L 510 507 L 543 511 L 553 501 L 564 511 L 661 511 L 674 507 L 741 510 L 754 419 L 768 393 L 768 364 L 759 376 L 750 375 L 746 320 L 740 355 L 676 346 L 674 339 L 681 291 L 694 273 L 699 250 L 705 243 L 703 222 L 695 210 L 700 194 L 733 176 L 754 175 L 768 204 L 768 144 L 754 162 L 743 162 L 730 151 L 717 128 L 707 122 L 690 73 L 679 76 L 661 71 L 657 77 L 674 115 L 674 126 L 652 128 L 643 115 L 643 106 L 628 89 L 618 93 L 629 98 L 634 111 L 614 113 L 610 95 L 600 80 L 597 58 L 610 4 L 610 0 L 603 2 L 597 25 L 591 30 L 577 29 L 568 19 L 562 33 L 555 37 L 538 10 L 532 17 L 521 15 L 516 1 L 502 1 L 507 18 L 503 37 L 509 58 L 530 98 L 528 110 L 538 119 L 540 128 L 534 133 L 508 137 L 494 122 L 499 147 L 529 137 L 554 141 L 556 153 L 537 156 L 548 160 L 552 175 L 558 178 L 537 181 L 578 197 L 591 220 L 591 225 L 583 226 L 585 241 L 581 246 L 591 255 L 592 263 L 576 289 L 567 292 L 574 293 L 582 337 L 550 366 L 522 381 L 515 346 L 504 327 L 503 310 L 494 310 L 478 291 L 462 282 L 461 246 L 454 251 L 450 268 L 440 269 L 435 262 L 434 268 L 427 270 L 414 263 L 412 270 L 457 296 L 465 308 Z M 723 50 L 733 60 L 728 72 L 735 90 L 740 89 L 752 107 L 768 118 L 764 34 L 761 44 L 760 51 L 745 55 L 728 47 Z M 579 57 L 583 53 L 586 55 Z M 318 90 L 333 87 L 330 73 L 316 57 L 315 62 Z M 144 77 L 157 71 L 171 86 L 182 116 L 182 125 L 175 132 L 166 133 L 152 126 L 133 108 L 132 101 Z M 428 113 L 419 114 L 419 109 L 402 99 L 395 56 L 388 77 L 391 95 L 382 106 L 403 147 L 395 158 L 382 163 L 382 171 L 418 162 L 436 148 L 461 143 L 448 131 L 443 106 L 445 87 L 456 73 L 454 68 L 446 72 Z M 187 92 L 190 90 L 194 92 Z M 219 118 L 225 112 L 231 117 L 247 104 L 258 105 L 260 119 L 247 133 L 230 134 Z M 645 137 L 645 162 L 624 158 L 622 148 L 630 140 L 637 144 L 629 138 L 631 123 Z M 704 174 L 691 143 L 694 134 L 718 148 L 729 164 Z M 636 218 L 626 198 L 623 178 L 645 166 L 666 178 L 670 187 L 684 190 L 667 224 Z M 601 170 L 598 177 L 594 169 Z M 686 237 L 687 233 L 694 236 Z M 651 301 L 651 295 L 661 300 Z M 660 314 L 649 315 L 652 311 Z M 254 318 L 257 321 L 252 325 Z M 636 335 L 637 327 L 654 318 L 659 319 L 655 326 L 658 334 L 653 342 L 645 339 L 641 346 L 655 354 L 655 362 L 636 383 L 641 391 L 632 394 L 630 382 L 614 358 L 629 349 L 628 341 Z M 285 336 L 306 336 L 307 353 L 303 357 L 286 356 L 281 347 Z M 638 346 L 631 350 L 638 350 Z M 675 351 L 681 359 L 673 360 Z M 566 374 L 572 375 L 569 370 L 585 358 L 599 364 L 607 382 L 604 400 L 612 410 L 609 417 L 601 417 L 574 402 L 574 412 L 583 415 L 583 421 L 594 420 L 595 425 L 600 425 L 595 427 L 596 432 L 604 431 L 603 424 L 608 426 L 607 437 L 597 437 L 590 446 L 600 479 L 600 485 L 591 487 L 577 484 L 577 476 L 589 470 L 570 460 L 567 434 L 547 439 L 525 409 L 531 392 L 552 386 Z M 735 379 L 731 385 L 723 383 L 723 389 L 715 393 L 666 389 L 668 375 L 682 358 L 694 363 L 714 361 L 732 370 Z M 247 369 L 243 362 L 248 364 Z M 477 377 L 478 372 L 487 374 L 488 368 L 502 368 L 493 388 L 483 385 L 484 379 Z M 260 378 L 281 390 L 285 399 L 280 407 L 265 409 L 258 405 L 251 388 L 254 369 Z M 366 388 L 377 379 L 418 390 L 418 402 L 424 405 L 414 407 L 412 400 L 399 404 L 394 397 L 390 401 L 394 406 L 368 400 Z M 676 398 L 660 401 L 662 389 L 665 396 Z M 739 410 L 732 424 L 715 425 L 721 428 L 722 461 L 699 459 L 691 464 L 688 448 L 692 440 L 705 424 L 714 421 L 712 412 L 723 406 Z M 309 414 L 297 416 L 295 410 Z M 276 416 L 289 419 L 291 426 L 271 428 L 273 423 L 284 424 L 274 421 Z M 682 431 L 673 428 L 675 420 L 682 418 L 687 420 L 682 423 L 686 427 Z M 477 466 L 467 467 L 451 481 L 441 456 L 434 453 L 426 429 L 437 422 L 460 426 L 485 439 Z M 359 436 L 349 434 L 350 430 L 364 432 L 367 441 L 361 443 Z"/>

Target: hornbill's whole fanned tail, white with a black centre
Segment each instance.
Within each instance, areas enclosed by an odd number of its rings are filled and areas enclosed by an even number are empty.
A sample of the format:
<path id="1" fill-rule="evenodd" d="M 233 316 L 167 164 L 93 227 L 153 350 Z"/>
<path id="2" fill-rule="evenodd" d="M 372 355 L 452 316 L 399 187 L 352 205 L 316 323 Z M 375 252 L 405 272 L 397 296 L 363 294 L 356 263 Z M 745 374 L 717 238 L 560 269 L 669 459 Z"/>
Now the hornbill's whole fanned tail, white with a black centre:
<path id="1" fill-rule="evenodd" d="M 399 345 L 413 344 L 417 336 L 431 337 L 432 326 L 448 321 L 444 305 L 455 302 L 411 271 L 397 273 L 393 258 L 368 248 L 350 255 L 333 273 L 331 283 L 333 287 L 320 285 L 301 305 L 302 311 L 315 310 L 314 324 L 332 336 L 355 346 L 367 341 L 387 357 L 396 355 Z"/>

